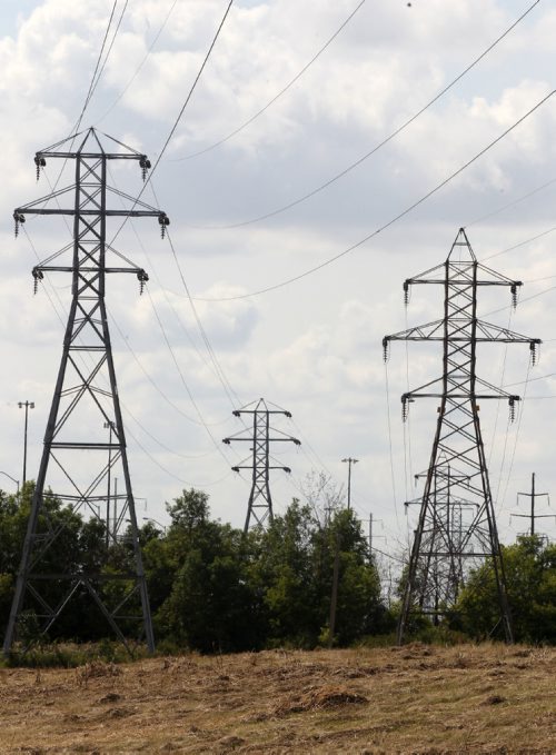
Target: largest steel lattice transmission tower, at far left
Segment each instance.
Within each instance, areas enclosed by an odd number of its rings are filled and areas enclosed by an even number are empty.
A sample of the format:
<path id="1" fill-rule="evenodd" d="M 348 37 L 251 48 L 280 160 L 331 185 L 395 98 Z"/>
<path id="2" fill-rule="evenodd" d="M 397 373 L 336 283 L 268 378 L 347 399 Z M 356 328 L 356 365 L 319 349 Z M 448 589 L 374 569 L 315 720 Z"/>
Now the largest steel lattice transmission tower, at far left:
<path id="1" fill-rule="evenodd" d="M 77 149 L 73 149 L 75 139 L 79 145 Z M 155 217 L 163 235 L 169 220 L 165 212 L 108 186 L 109 162 L 136 160 L 143 180 L 150 162 L 145 155 L 111 137 L 103 141 L 106 149 L 99 132 L 91 128 L 37 152 L 37 179 L 48 159 L 61 158 L 73 162 L 75 183 L 13 212 L 16 235 L 27 215 L 69 216 L 73 232 L 70 245 L 32 271 L 36 290 L 47 272 L 71 274 L 71 305 L 6 632 L 7 654 L 19 638 L 22 615 L 33 612 L 40 635 L 47 636 L 72 598 L 83 594 L 89 595 L 128 649 L 130 634 L 145 639 L 149 650 L 155 649 L 105 300 L 107 275 L 131 272 L 137 276 L 141 290 L 148 276 L 107 241 L 107 221 Z M 123 207 L 129 207 L 109 209 L 108 200 L 113 196 L 120 198 Z M 71 252 L 69 265 L 59 259 L 64 252 Z M 115 267 L 107 265 L 108 252 L 116 258 Z M 110 428 L 110 435 L 106 427 Z M 115 474 L 123 485 L 120 493 L 110 495 L 107 480 Z M 95 518 L 107 526 L 103 563 L 86 557 L 79 559 L 79 566 L 67 567 L 68 570 L 52 563 L 51 548 L 62 539 L 64 527 L 60 517 L 54 521 L 51 515 L 49 501 L 52 499 L 58 499 L 69 514 L 85 520 Z M 107 524 L 110 503 L 117 511 L 112 528 Z M 117 549 L 112 546 L 122 542 L 132 550 L 131 567 L 122 567 L 111 556 Z"/>

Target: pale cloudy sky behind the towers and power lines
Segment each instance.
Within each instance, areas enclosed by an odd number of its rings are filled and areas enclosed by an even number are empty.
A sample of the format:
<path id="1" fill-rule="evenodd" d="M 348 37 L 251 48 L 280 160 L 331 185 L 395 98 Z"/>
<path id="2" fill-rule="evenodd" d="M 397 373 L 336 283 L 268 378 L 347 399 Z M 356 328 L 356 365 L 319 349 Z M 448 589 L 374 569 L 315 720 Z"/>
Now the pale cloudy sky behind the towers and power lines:
<path id="1" fill-rule="evenodd" d="M 69 242 L 68 228 L 29 217 L 16 239 L 11 215 L 58 179 L 52 160 L 37 185 L 33 156 L 78 121 L 112 6 L 4 0 L 0 8 L 0 464 L 8 490 L 10 477 L 22 478 L 18 401 L 34 403 L 28 477 L 38 471 L 70 294 L 64 274 L 51 274 L 33 296 L 31 277 L 38 260 Z M 165 148 L 227 6 L 119 0 L 119 31 L 113 37 L 112 24 L 80 125 L 157 165 L 143 199 L 168 213 L 176 250 L 156 221 L 127 223 L 117 247 L 150 281 L 142 296 L 130 276 L 108 285 L 138 517 L 166 524 L 165 504 L 196 487 L 209 494 L 215 517 L 242 526 L 249 475 L 230 467 L 247 445 L 221 439 L 242 429 L 232 410 L 264 397 L 292 415 L 277 416 L 277 430 L 301 440 L 299 448 L 276 445 L 277 464 L 291 475 L 272 474 L 275 511 L 310 495 L 321 471 L 345 494 L 341 459 L 355 457 L 354 508 L 365 528 L 373 514 L 377 548 L 401 553 L 416 516 L 404 501 L 419 494 L 414 476 L 428 464 L 436 403 L 413 406 L 403 424 L 399 397 L 440 375 L 441 352 L 394 344 L 385 367 L 381 339 L 441 317 L 437 287 L 417 288 L 406 309 L 401 285 L 443 262 L 465 227 L 480 261 L 524 281 L 515 312 L 509 294 L 496 289 L 480 292 L 479 315 L 544 341 L 535 367 L 527 346 L 478 350 L 483 378 L 525 396 L 514 424 L 504 404 L 480 418 L 500 538 L 513 542 L 526 528 L 510 515 L 527 510 L 518 493 L 530 490 L 532 473 L 537 491 L 556 490 L 556 96 L 405 210 L 554 89 L 556 4 L 236 0 Z M 445 95 L 361 159 L 528 8 Z M 138 169 L 115 167 L 109 180 L 131 196 L 142 188 Z M 70 185 L 71 176 L 60 181 Z M 539 513 L 552 510 L 538 500 Z M 556 536 L 553 519 L 537 529 Z"/>

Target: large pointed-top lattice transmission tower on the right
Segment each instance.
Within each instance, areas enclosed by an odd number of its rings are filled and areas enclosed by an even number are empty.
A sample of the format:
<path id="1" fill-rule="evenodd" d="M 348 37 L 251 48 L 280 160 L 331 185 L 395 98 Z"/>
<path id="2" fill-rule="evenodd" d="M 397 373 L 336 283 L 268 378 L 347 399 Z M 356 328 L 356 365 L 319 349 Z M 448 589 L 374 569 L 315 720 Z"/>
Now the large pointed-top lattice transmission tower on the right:
<path id="1" fill-rule="evenodd" d="M 394 340 L 443 344 L 443 375 L 401 396 L 403 417 L 417 398 L 439 399 L 436 435 L 425 477 L 419 518 L 409 557 L 398 624 L 404 640 L 409 615 L 418 608 L 438 622 L 457 600 L 466 567 L 490 558 L 498 592 L 500 620 L 512 642 L 512 620 L 493 496 L 479 424 L 479 401 L 505 398 L 510 418 L 519 396 L 510 395 L 476 375 L 478 344 L 529 344 L 535 364 L 538 338 L 529 338 L 477 317 L 479 287 L 507 286 L 516 305 L 518 280 L 510 280 L 477 262 L 461 228 L 443 265 L 408 278 L 405 300 L 414 285 L 444 287 L 444 317 L 386 336 L 385 359 Z M 466 565 L 466 567 L 464 566 Z"/>

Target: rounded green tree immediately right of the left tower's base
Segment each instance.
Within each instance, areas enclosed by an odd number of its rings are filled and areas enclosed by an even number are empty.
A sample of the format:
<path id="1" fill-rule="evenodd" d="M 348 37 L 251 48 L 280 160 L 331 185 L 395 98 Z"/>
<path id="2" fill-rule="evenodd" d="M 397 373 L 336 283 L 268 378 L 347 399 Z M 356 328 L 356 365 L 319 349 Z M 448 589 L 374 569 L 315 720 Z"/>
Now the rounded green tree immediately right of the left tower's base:
<path id="1" fill-rule="evenodd" d="M 183 490 L 168 513 L 166 542 L 146 550 L 151 592 L 156 583 L 168 590 L 156 613 L 159 636 L 201 652 L 258 647 L 241 533 L 210 520 L 199 490 Z"/>

